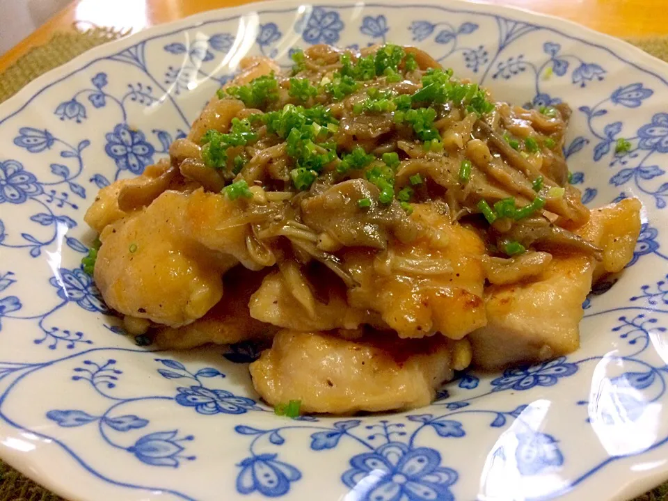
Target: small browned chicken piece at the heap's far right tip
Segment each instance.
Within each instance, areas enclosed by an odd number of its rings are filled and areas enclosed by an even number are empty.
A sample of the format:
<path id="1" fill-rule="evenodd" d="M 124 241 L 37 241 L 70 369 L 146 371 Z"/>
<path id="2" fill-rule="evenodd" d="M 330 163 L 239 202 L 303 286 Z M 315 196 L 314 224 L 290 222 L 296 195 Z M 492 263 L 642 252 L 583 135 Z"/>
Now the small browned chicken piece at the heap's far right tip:
<path id="1" fill-rule="evenodd" d="M 603 249 L 603 260 L 596 263 L 594 283 L 607 273 L 619 273 L 633 259 L 640 234 L 640 209 L 637 198 L 591 210 L 589 222 L 575 234 Z"/>

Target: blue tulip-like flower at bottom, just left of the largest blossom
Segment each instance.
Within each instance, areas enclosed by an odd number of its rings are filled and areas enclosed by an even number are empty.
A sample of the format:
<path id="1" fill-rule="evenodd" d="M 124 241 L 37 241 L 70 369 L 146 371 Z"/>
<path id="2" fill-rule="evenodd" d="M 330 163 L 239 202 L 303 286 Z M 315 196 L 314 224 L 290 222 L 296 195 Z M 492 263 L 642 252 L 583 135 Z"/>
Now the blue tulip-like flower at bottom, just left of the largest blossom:
<path id="1" fill-rule="evenodd" d="M 290 490 L 290 482 L 301 479 L 301 472 L 292 465 L 276 460 L 276 454 L 250 456 L 241 461 L 237 491 L 241 494 L 260 492 L 278 498 Z"/>

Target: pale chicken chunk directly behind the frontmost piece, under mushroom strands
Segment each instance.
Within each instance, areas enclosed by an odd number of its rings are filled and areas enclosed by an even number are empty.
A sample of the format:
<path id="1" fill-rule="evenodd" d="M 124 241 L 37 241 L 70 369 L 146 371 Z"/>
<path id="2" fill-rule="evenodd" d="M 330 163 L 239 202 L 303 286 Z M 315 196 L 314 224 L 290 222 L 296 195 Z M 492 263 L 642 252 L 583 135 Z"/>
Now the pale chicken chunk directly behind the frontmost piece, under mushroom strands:
<path id="1" fill-rule="evenodd" d="M 351 308 L 346 302 L 346 289 L 337 278 L 311 283 L 294 263 L 269 273 L 250 297 L 249 307 L 251 317 L 296 331 L 353 329 L 374 322 L 377 316 Z"/>

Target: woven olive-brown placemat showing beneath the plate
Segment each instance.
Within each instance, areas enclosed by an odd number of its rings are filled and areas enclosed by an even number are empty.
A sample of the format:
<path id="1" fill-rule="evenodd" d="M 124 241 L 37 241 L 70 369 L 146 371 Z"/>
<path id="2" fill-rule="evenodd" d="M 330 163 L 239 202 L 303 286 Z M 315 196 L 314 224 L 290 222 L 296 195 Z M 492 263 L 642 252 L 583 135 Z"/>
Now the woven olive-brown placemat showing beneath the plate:
<path id="1" fill-rule="evenodd" d="M 0 74 L 0 102 L 13 96 L 41 74 L 67 63 L 88 49 L 122 35 L 125 33 L 106 28 L 57 33 L 46 45 L 32 49 Z M 634 38 L 628 41 L 668 62 L 668 37 Z M 65 500 L 0 461 L 0 501 Z M 668 501 L 668 482 L 633 501 Z"/>

